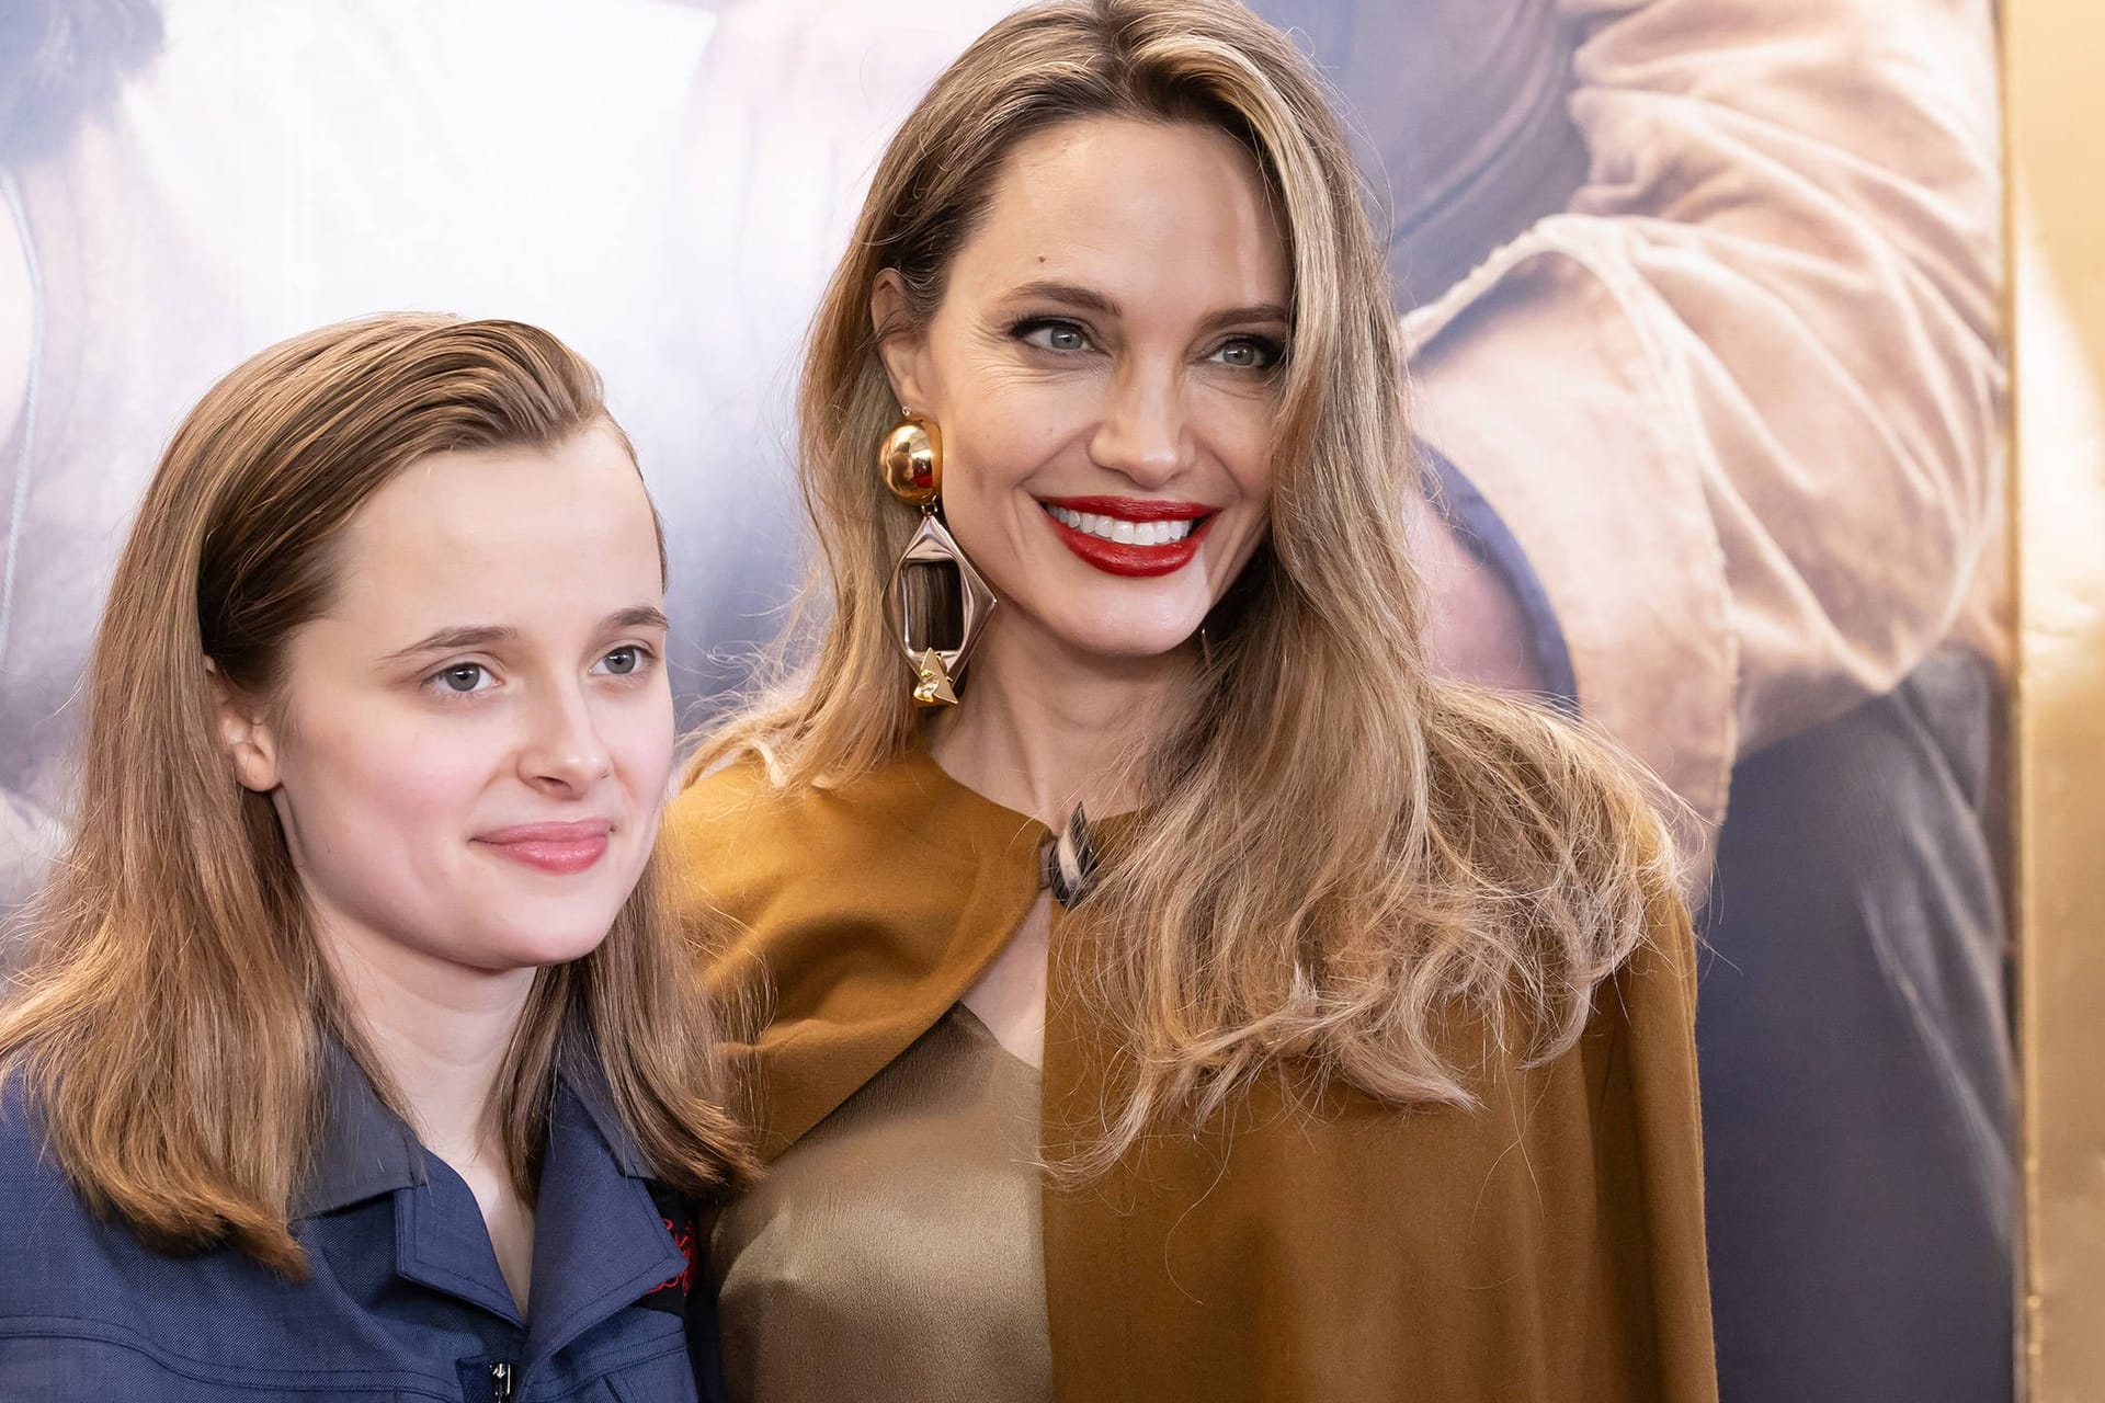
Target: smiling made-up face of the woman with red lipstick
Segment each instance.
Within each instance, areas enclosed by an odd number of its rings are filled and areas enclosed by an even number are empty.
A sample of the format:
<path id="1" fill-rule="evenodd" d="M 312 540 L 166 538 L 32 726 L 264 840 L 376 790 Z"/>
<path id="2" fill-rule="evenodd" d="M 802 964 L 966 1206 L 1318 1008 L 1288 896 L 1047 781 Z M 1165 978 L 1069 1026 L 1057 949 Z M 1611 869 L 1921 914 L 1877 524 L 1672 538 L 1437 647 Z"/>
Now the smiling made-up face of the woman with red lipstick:
<path id="1" fill-rule="evenodd" d="M 1000 629 L 1124 660 L 1189 644 L 1269 530 L 1290 305 L 1225 133 L 1084 118 L 1017 145 L 888 355 L 943 425 L 945 522 Z"/>

